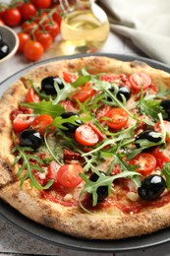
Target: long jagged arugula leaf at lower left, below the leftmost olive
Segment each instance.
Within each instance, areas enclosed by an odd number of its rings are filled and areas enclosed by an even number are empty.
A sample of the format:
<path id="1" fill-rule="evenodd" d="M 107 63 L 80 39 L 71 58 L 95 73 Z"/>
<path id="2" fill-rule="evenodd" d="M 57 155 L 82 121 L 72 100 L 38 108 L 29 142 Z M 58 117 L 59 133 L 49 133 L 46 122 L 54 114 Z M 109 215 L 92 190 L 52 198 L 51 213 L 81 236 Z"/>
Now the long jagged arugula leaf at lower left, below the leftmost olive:
<path id="1" fill-rule="evenodd" d="M 39 172 L 43 172 L 43 168 L 39 166 L 39 164 L 42 164 L 43 161 L 39 159 L 37 156 L 28 154 L 28 152 L 32 152 L 33 150 L 29 147 L 20 147 L 16 143 L 15 135 L 13 134 L 13 141 L 15 147 L 12 150 L 12 153 L 15 154 L 18 153 L 18 157 L 14 160 L 14 165 L 19 163 L 19 160 L 23 161 L 23 164 L 19 167 L 19 170 L 17 172 L 17 176 L 21 180 L 21 187 L 23 186 L 24 182 L 29 179 L 30 180 L 30 186 L 35 187 L 37 189 L 48 189 L 52 184 L 53 180 L 49 180 L 48 183 L 45 186 L 41 186 L 37 180 L 35 179 L 32 170 L 36 169 Z M 36 160 L 38 164 L 31 164 L 31 160 Z M 24 173 L 24 174 L 23 174 Z M 22 175 L 23 174 L 23 175 Z"/>

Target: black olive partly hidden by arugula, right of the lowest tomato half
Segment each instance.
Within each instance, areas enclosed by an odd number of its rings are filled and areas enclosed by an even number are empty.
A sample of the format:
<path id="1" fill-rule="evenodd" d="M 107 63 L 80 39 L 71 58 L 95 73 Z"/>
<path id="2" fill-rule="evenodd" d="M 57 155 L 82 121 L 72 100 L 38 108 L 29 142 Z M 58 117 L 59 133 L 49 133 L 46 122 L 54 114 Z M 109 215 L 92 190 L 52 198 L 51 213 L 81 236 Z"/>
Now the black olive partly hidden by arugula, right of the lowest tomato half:
<path id="1" fill-rule="evenodd" d="M 102 175 L 106 176 L 105 172 L 103 171 L 99 171 L 99 172 Z M 97 175 L 97 173 L 93 172 L 90 175 L 89 180 L 95 182 L 97 181 L 98 178 L 99 176 Z M 96 192 L 97 192 L 97 203 L 101 203 L 108 196 L 108 186 L 99 186 Z"/>

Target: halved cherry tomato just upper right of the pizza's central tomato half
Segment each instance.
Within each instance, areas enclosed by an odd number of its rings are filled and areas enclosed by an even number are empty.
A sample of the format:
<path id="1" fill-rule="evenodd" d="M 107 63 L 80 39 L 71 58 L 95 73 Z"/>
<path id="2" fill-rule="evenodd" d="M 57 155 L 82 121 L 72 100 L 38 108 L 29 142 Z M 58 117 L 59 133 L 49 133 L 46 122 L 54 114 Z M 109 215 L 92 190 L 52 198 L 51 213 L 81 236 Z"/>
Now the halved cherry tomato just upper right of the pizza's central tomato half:
<path id="1" fill-rule="evenodd" d="M 105 123 L 114 130 L 119 130 L 128 122 L 128 113 L 123 108 L 114 107 L 111 108 L 106 114 L 106 117 L 110 118 L 109 120 L 105 120 Z"/>

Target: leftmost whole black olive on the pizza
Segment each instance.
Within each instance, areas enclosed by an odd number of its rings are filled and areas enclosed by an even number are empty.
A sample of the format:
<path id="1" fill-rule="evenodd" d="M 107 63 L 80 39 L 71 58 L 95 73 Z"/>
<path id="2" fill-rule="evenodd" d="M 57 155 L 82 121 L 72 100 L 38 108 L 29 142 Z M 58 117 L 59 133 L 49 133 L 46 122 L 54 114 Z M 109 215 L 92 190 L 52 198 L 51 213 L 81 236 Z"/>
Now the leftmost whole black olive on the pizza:
<path id="1" fill-rule="evenodd" d="M 42 145 L 42 137 L 39 132 L 28 129 L 20 134 L 21 146 L 31 147 L 33 150 L 37 150 Z"/>

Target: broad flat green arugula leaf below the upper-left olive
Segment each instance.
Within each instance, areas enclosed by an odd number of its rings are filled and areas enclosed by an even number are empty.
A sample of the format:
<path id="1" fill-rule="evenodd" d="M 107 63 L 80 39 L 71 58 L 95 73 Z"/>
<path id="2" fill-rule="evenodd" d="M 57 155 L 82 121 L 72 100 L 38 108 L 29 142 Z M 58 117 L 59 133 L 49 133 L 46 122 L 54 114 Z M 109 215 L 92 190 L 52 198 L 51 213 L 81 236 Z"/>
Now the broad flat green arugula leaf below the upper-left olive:
<path id="1" fill-rule="evenodd" d="M 53 104 L 51 101 L 46 101 L 45 99 L 40 102 L 21 102 L 20 104 L 33 109 L 35 114 L 49 114 L 53 118 L 65 112 L 64 107 L 60 104 Z"/>

